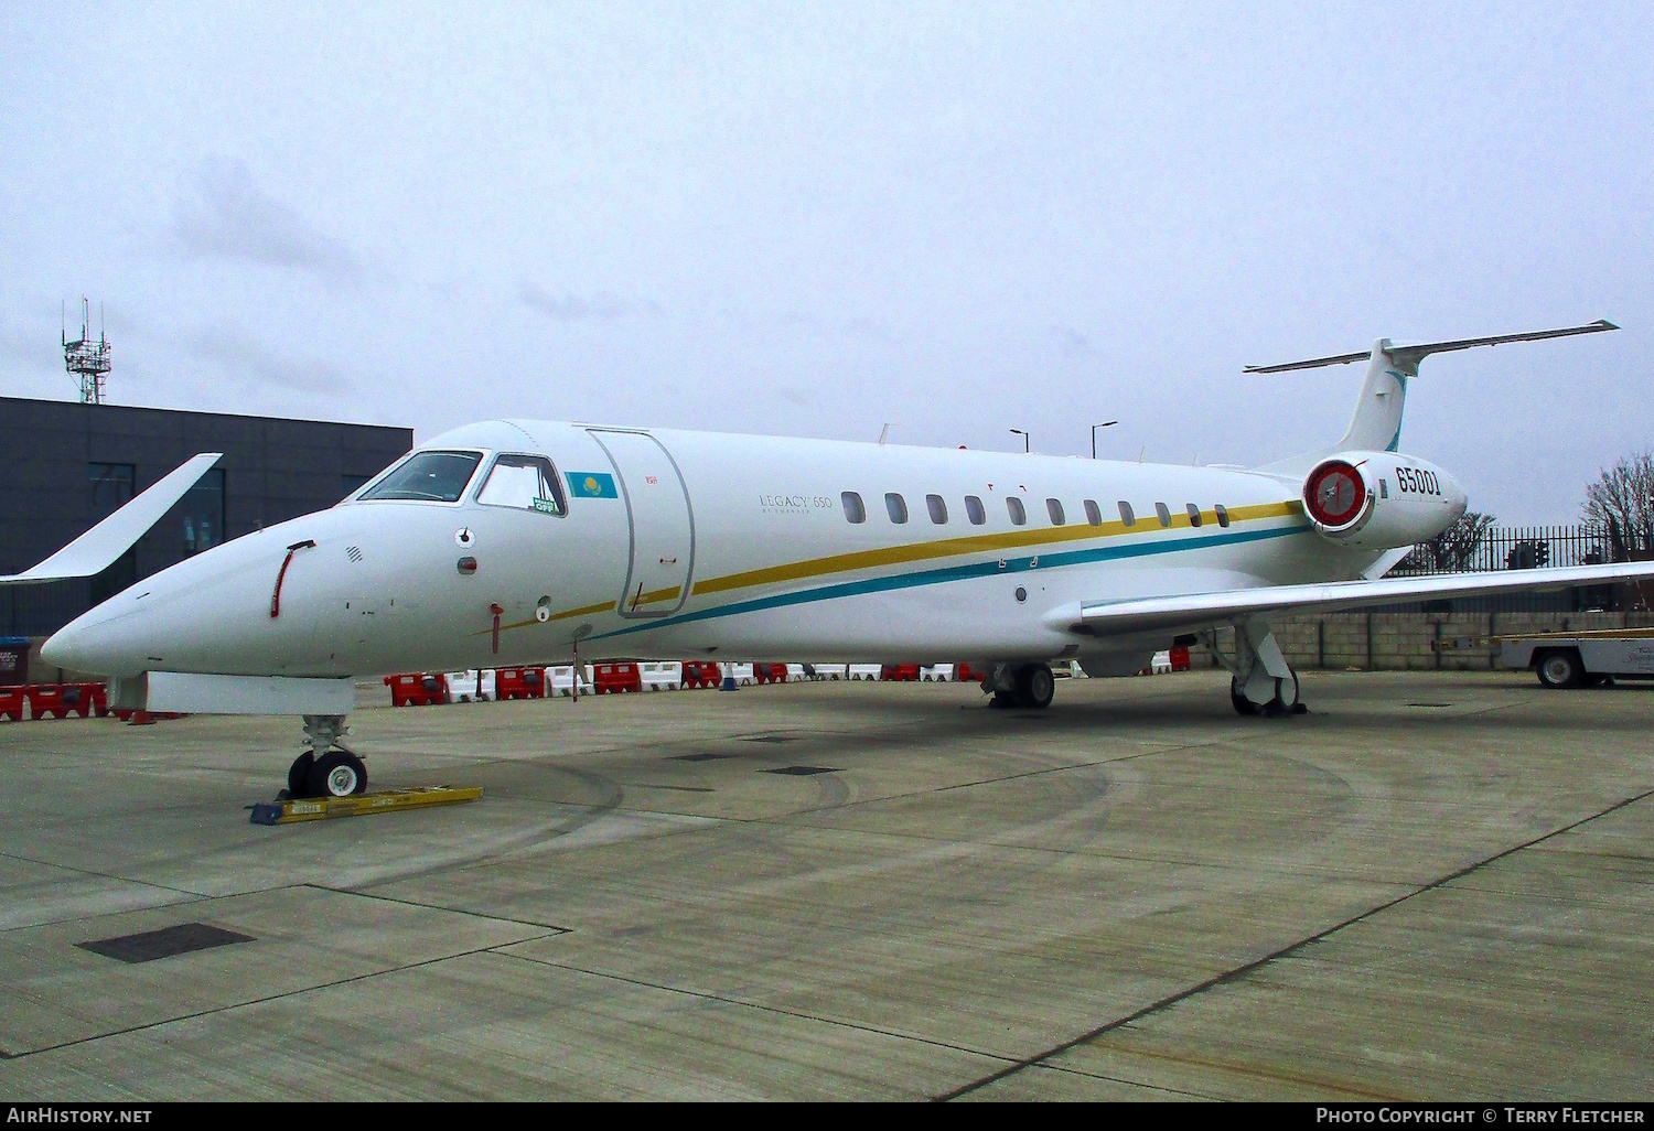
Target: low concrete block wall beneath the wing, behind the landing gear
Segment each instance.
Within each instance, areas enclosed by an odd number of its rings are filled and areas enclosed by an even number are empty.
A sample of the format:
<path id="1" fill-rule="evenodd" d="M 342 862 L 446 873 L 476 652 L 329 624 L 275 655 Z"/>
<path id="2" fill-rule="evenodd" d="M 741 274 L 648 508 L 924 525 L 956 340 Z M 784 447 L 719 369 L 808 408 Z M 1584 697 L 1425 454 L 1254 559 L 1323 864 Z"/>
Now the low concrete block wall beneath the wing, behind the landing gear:
<path id="1" fill-rule="evenodd" d="M 1274 622 L 1275 640 L 1293 668 L 1340 671 L 1487 671 L 1499 666 L 1499 650 L 1487 638 L 1535 632 L 1647 628 L 1654 613 L 1323 613 Z M 1234 630 L 1217 633 L 1219 647 L 1234 647 Z M 1441 651 L 1436 642 L 1456 645 Z M 1194 666 L 1219 666 L 1204 647 L 1189 650 Z"/>

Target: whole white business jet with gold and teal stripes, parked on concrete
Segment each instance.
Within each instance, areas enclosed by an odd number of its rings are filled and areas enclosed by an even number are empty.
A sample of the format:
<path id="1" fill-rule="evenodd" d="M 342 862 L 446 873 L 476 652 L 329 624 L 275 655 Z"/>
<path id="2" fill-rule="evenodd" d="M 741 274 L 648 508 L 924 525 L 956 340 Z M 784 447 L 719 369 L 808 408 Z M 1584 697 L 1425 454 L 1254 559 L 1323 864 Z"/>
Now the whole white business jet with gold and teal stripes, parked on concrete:
<path id="1" fill-rule="evenodd" d="M 1452 476 L 1398 450 L 1419 362 L 1611 329 L 1383 339 L 1252 369 L 1370 360 L 1336 445 L 1250 471 L 473 423 L 331 509 L 141 580 L 51 637 L 43 656 L 112 676 L 117 706 L 304 716 L 311 749 L 293 766 L 293 794 L 366 789 L 361 759 L 339 744 L 352 676 L 579 650 L 981 661 L 996 704 L 1045 708 L 1052 660 L 1126 675 L 1173 640 L 1216 643 L 1232 625 L 1219 660 L 1236 709 L 1290 714 L 1298 680 L 1270 617 L 1654 574 L 1642 562 L 1383 580 L 1465 509 Z M 65 575 L 51 564 L 73 549 L 15 580 Z"/>

